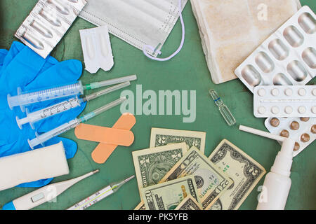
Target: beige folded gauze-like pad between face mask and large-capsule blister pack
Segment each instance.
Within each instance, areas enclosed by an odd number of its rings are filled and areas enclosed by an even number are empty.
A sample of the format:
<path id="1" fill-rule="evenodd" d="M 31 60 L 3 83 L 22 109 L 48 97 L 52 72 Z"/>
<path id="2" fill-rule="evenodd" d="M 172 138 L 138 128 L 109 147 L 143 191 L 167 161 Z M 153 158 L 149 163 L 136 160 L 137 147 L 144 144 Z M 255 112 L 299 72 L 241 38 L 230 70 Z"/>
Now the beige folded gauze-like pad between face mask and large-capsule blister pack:
<path id="1" fill-rule="evenodd" d="M 235 69 L 294 15 L 298 0 L 191 0 L 213 83 L 237 78 Z"/>

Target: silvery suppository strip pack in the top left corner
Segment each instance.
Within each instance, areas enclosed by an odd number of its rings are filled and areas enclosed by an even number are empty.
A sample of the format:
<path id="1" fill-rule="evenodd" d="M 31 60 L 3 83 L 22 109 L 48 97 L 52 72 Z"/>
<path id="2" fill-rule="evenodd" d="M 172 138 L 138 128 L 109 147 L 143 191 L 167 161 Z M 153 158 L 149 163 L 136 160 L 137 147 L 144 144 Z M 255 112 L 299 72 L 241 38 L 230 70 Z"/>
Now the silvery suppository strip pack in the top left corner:
<path id="1" fill-rule="evenodd" d="M 46 58 L 85 5 L 86 0 L 39 0 L 15 36 Z"/>

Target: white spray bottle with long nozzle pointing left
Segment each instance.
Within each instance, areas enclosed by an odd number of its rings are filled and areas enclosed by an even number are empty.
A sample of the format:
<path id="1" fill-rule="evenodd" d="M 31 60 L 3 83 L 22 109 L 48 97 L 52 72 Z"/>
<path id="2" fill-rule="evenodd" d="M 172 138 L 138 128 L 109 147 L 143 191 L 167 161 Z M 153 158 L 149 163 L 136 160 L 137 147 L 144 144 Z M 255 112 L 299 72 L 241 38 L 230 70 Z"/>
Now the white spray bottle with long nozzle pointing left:
<path id="1" fill-rule="evenodd" d="M 271 171 L 265 176 L 257 210 L 284 210 L 291 188 L 291 166 L 295 141 L 275 134 L 256 130 L 243 125 L 239 130 L 282 141 L 282 147 L 275 158 Z"/>

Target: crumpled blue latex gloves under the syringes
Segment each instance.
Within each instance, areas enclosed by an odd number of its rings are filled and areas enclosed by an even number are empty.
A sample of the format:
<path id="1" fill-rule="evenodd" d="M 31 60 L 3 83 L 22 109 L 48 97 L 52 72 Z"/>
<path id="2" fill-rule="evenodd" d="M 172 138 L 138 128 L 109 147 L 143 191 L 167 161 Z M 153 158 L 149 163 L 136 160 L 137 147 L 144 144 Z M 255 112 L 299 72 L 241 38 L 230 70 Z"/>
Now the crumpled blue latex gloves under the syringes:
<path id="1" fill-rule="evenodd" d="M 53 87 L 75 83 L 81 76 L 82 64 L 78 60 L 67 60 L 58 62 L 55 58 L 48 56 L 43 59 L 33 50 L 19 42 L 13 42 L 9 51 L 0 50 L 0 157 L 30 151 L 27 139 L 34 139 L 35 132 L 39 134 L 52 130 L 66 123 L 84 110 L 86 103 L 81 106 L 65 111 L 51 118 L 41 120 L 34 124 L 35 130 L 25 124 L 22 130 L 18 127 L 15 117 L 24 118 L 26 115 L 15 106 L 11 110 L 7 102 L 7 94 L 17 94 L 17 87 L 22 91 L 34 91 L 41 88 Z M 69 97 L 68 97 L 69 98 Z M 56 99 L 47 102 L 39 102 L 27 106 L 29 112 L 43 109 L 64 99 Z M 45 146 L 57 144 L 59 141 L 65 146 L 67 159 L 74 157 L 77 152 L 77 144 L 70 140 L 55 137 L 46 141 Z M 37 146 L 35 148 L 41 148 Z M 50 183 L 52 179 L 23 183 L 20 187 L 41 187 Z"/>

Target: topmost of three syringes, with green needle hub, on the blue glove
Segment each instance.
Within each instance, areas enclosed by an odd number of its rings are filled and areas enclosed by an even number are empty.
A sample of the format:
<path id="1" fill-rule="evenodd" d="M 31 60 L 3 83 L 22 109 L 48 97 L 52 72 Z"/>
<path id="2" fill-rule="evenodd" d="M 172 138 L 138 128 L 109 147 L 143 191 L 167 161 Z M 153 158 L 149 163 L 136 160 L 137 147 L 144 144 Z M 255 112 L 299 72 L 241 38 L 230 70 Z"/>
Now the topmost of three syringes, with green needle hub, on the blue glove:
<path id="1" fill-rule="evenodd" d="M 104 80 L 96 83 L 90 83 L 87 85 L 82 85 L 81 81 L 71 84 L 63 85 L 60 87 L 53 87 L 46 90 L 39 90 L 36 92 L 26 92 L 22 93 L 20 87 L 18 87 L 18 95 L 11 97 L 8 94 L 8 106 L 13 109 L 14 106 L 20 106 L 21 110 L 25 111 L 25 106 L 29 104 L 34 104 L 37 102 L 43 102 L 51 99 L 58 99 L 62 97 L 75 96 L 77 94 L 84 94 L 84 90 L 93 90 L 98 87 L 104 87 L 107 85 L 114 85 L 119 83 L 124 83 L 131 80 L 136 80 L 137 76 L 125 76 L 121 78 L 114 78 L 110 80 Z"/>

